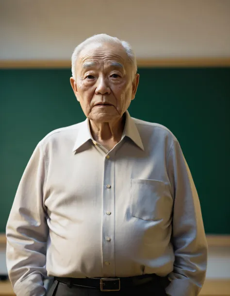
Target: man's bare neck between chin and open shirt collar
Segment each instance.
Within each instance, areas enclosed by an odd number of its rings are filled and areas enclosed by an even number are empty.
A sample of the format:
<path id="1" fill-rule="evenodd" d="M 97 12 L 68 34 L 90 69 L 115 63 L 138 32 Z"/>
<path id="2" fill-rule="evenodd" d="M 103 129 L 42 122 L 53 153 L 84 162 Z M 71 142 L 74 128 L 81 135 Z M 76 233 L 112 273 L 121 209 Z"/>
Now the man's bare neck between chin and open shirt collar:
<path id="1" fill-rule="evenodd" d="M 90 122 L 90 130 L 93 138 L 111 150 L 121 139 L 125 127 L 125 114 L 113 122 Z"/>

